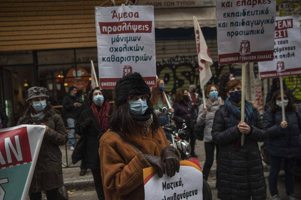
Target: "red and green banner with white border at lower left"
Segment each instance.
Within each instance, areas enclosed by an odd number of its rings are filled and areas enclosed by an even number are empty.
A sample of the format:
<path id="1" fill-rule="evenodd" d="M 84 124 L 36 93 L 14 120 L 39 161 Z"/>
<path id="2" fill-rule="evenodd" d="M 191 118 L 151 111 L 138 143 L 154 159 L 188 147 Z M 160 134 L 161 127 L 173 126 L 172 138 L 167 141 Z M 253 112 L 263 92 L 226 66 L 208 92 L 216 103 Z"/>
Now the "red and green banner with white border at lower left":
<path id="1" fill-rule="evenodd" d="M 45 126 L 0 130 L 0 200 L 27 198 Z"/>

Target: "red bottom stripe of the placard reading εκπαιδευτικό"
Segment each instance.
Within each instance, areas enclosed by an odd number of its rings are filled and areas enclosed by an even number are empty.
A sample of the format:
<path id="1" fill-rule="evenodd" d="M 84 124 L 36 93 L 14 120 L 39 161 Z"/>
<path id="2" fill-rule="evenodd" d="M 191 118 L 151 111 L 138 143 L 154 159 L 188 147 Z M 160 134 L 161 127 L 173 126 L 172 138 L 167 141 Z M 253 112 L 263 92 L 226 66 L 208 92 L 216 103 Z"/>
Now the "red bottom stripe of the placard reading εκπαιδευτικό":
<path id="1" fill-rule="evenodd" d="M 261 62 L 273 60 L 274 51 L 257 51 L 250 54 L 227 53 L 219 55 L 219 64 L 227 65 L 232 63 Z"/>

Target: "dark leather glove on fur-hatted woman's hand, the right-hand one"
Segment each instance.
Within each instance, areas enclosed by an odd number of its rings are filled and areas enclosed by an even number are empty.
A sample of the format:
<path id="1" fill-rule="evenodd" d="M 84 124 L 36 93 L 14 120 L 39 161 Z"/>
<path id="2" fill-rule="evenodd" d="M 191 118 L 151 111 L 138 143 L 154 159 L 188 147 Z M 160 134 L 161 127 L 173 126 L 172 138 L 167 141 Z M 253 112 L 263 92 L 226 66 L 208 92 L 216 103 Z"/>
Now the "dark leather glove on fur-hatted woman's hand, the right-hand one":
<path id="1" fill-rule="evenodd" d="M 175 151 L 174 147 L 166 147 L 162 150 L 162 158 L 166 164 L 166 173 L 169 177 L 173 177 L 180 170 L 180 161 Z"/>

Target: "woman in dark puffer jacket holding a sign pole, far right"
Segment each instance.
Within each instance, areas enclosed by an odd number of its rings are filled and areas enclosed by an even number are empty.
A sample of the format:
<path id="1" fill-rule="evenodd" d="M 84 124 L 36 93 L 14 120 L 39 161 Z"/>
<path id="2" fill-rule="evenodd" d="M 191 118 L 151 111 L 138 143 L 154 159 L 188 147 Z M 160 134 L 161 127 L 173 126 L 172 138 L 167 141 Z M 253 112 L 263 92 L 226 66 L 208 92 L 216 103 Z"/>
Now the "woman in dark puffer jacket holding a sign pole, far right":
<path id="1" fill-rule="evenodd" d="M 282 121 L 281 92 L 278 90 L 272 96 L 270 106 L 263 115 L 263 121 L 267 126 L 269 138 L 266 140 L 267 153 L 271 159 L 269 174 L 270 199 L 280 199 L 277 191 L 277 176 L 281 161 L 284 158 L 285 187 L 288 200 L 295 200 L 293 167 L 296 157 L 301 155 L 301 116 L 292 103 L 288 92 L 284 91 L 285 119 Z"/>

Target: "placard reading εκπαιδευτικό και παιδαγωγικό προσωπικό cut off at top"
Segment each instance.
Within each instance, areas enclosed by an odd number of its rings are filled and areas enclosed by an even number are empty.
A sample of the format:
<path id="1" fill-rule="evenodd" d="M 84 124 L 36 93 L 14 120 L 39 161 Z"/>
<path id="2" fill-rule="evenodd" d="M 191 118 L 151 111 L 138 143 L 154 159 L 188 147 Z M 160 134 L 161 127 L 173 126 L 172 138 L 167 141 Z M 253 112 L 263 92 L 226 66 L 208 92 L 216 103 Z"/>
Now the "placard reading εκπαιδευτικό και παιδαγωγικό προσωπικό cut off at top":
<path id="1" fill-rule="evenodd" d="M 273 59 L 275 0 L 216 2 L 219 64 Z"/>

